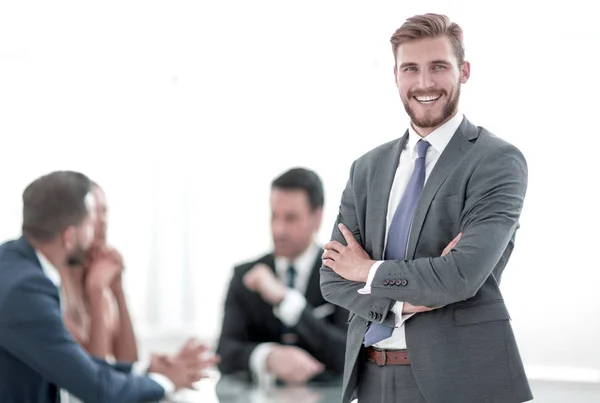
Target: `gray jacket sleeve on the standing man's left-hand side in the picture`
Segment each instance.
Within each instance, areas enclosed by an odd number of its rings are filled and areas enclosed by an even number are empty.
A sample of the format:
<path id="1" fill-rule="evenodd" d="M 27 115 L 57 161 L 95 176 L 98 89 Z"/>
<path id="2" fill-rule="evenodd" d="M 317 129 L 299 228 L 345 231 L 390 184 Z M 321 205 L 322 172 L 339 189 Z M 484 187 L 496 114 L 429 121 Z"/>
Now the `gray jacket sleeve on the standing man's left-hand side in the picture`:
<path id="1" fill-rule="evenodd" d="M 338 229 L 338 224 L 342 223 L 354 234 L 356 241 L 364 248 L 364 237 L 359 227 L 356 214 L 356 195 L 354 193 L 353 181 L 355 165 L 350 169 L 350 178 L 346 188 L 342 193 L 342 201 L 337 220 L 333 226 L 331 239 L 346 244 L 346 241 Z M 364 204 L 364 203 L 363 203 Z M 386 323 L 394 326 L 395 315 L 391 312 L 394 301 L 388 296 L 381 295 L 361 295 L 358 290 L 364 287 L 364 283 L 348 281 L 339 276 L 327 266 L 321 266 L 321 292 L 323 298 L 332 304 L 341 306 L 351 313 L 354 313 L 363 319 L 374 320 L 372 312 L 376 312 L 379 323 Z"/>

